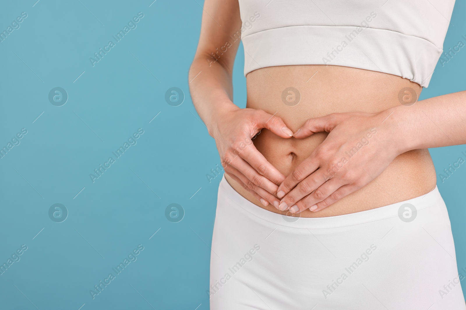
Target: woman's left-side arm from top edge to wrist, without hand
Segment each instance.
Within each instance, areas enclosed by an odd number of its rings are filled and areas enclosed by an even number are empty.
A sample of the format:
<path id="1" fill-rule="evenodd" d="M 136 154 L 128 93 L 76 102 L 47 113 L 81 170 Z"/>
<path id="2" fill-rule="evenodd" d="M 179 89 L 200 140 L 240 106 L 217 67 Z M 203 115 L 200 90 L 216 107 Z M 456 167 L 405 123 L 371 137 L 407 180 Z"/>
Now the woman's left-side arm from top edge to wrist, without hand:
<path id="1" fill-rule="evenodd" d="M 240 28 L 238 1 L 204 2 L 199 44 L 188 79 L 192 103 L 211 136 L 216 113 L 238 108 L 232 102 L 232 74 L 240 40 L 233 41 L 230 35 Z M 224 53 L 226 42 L 231 46 Z"/>

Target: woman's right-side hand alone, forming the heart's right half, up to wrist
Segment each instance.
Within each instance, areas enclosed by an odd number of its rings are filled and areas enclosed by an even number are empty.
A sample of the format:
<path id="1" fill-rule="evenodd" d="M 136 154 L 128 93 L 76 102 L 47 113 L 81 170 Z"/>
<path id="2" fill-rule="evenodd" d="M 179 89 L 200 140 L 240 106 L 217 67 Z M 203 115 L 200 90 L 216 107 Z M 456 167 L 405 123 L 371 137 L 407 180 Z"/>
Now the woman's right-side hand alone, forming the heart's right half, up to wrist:
<path id="1" fill-rule="evenodd" d="M 401 154 L 392 123 L 386 121 L 390 115 L 385 110 L 308 119 L 296 139 L 315 132 L 329 135 L 279 186 L 280 210 L 320 211 L 374 180 Z"/>

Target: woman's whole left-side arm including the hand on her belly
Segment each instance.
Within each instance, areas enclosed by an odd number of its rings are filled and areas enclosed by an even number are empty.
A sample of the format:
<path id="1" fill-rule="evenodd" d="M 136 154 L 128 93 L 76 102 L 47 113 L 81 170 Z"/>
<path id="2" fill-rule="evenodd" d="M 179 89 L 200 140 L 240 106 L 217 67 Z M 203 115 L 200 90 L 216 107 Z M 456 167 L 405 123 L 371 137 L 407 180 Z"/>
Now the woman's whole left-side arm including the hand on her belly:
<path id="1" fill-rule="evenodd" d="M 189 71 L 192 102 L 215 139 L 226 173 L 262 204 L 274 197 L 285 179 L 254 147 L 251 138 L 267 128 L 282 138 L 293 132 L 276 116 L 233 104 L 233 62 L 240 44 L 238 0 L 206 0 L 199 45 Z"/>

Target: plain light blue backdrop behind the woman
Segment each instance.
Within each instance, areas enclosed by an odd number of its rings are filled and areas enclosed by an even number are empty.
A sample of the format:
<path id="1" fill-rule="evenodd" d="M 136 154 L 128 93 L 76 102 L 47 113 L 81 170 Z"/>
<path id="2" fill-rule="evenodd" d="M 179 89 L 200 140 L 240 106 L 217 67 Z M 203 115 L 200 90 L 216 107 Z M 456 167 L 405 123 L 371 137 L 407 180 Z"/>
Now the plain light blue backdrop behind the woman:
<path id="1" fill-rule="evenodd" d="M 0 275 L 0 308 L 208 309 L 220 177 L 209 183 L 206 173 L 220 162 L 187 81 L 203 3 L 35 1 L 2 0 L 0 6 L 1 31 L 27 13 L 0 43 L 0 146 L 27 129 L 21 144 L 0 159 L 0 263 L 21 244 L 28 247 Z M 137 28 L 93 67 L 89 57 L 138 12 L 144 18 Z M 465 15 L 465 2 L 457 1 L 445 50 L 466 43 Z M 234 95 L 241 107 L 243 61 L 240 46 Z M 445 66 L 437 65 L 420 99 L 464 90 L 465 70 L 463 47 Z M 57 86 L 69 94 L 61 107 L 48 101 Z M 176 107 L 164 100 L 173 86 L 185 93 Z M 144 134 L 137 145 L 92 183 L 89 174 L 138 128 Z M 431 149 L 438 173 L 466 158 L 462 151 L 465 145 Z M 438 179 L 459 269 L 466 267 L 465 185 L 465 164 L 444 183 Z M 62 223 L 48 217 L 55 203 L 69 211 Z M 172 203 L 185 210 L 179 223 L 164 216 Z M 138 244 L 144 251 L 137 261 L 92 299 L 89 290 Z"/>

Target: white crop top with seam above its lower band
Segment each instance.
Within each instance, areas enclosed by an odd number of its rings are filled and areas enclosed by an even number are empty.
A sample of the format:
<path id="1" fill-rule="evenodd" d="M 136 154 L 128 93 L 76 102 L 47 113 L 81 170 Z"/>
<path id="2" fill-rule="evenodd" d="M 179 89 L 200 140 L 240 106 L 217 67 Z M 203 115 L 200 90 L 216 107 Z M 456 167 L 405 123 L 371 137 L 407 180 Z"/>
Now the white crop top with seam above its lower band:
<path id="1" fill-rule="evenodd" d="M 427 87 L 454 0 L 239 0 L 244 75 L 268 66 L 336 65 Z"/>

